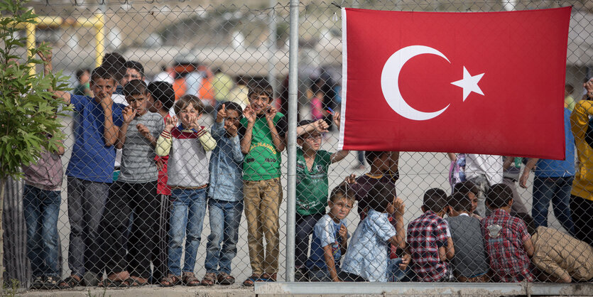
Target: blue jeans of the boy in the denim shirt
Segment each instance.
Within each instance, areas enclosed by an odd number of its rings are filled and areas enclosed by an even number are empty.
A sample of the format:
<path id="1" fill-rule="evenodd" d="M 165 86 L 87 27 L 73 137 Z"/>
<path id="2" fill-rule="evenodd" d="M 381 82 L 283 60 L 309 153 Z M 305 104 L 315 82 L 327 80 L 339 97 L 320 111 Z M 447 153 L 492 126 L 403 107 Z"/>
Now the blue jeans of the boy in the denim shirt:
<path id="1" fill-rule="evenodd" d="M 210 236 L 206 244 L 206 272 L 231 274 L 231 261 L 236 256 L 243 200 L 229 202 L 210 198 Z M 221 248 L 222 244 L 222 248 Z"/>

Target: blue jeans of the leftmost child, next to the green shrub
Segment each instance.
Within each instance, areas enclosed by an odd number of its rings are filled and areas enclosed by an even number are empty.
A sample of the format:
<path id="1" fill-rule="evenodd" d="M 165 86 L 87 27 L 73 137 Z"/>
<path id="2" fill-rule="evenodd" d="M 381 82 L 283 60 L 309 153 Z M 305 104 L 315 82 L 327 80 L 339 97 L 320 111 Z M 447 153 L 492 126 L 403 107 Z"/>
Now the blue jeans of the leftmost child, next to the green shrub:
<path id="1" fill-rule="evenodd" d="M 59 276 L 58 214 L 61 200 L 59 190 L 41 190 L 25 185 L 23 210 L 27 227 L 27 257 L 31 261 L 33 277 Z"/>

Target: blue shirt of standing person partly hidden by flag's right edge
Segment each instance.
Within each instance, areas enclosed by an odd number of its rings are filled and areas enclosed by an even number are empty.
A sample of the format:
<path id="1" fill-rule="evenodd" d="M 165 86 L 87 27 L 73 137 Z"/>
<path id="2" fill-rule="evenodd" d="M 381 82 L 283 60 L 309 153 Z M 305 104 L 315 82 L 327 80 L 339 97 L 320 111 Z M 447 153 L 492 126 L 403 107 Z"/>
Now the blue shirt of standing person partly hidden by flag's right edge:
<path id="1" fill-rule="evenodd" d="M 562 160 L 539 159 L 535 168 L 538 178 L 558 178 L 575 175 L 575 136 L 570 130 L 570 110 L 564 109 L 564 136 L 566 156 Z"/>

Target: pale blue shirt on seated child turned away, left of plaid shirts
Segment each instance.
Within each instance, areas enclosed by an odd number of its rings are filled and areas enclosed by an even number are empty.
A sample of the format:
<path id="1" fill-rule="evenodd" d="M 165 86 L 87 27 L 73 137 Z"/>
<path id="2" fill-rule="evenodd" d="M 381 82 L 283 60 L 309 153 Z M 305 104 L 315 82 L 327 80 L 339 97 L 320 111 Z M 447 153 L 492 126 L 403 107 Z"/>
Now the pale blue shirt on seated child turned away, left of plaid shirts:
<path id="1" fill-rule="evenodd" d="M 388 214 L 369 210 L 352 235 L 342 271 L 362 276 L 367 281 L 387 281 L 388 240 L 396 234 Z"/>

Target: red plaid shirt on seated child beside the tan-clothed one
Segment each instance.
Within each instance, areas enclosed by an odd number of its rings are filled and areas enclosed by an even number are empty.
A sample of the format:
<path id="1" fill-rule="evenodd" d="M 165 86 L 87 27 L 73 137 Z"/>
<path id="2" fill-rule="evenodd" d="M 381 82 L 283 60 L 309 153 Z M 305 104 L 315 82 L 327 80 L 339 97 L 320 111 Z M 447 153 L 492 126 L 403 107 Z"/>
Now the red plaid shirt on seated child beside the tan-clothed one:
<path id="1" fill-rule="evenodd" d="M 533 281 L 531 263 L 523 242 L 530 239 L 523 220 L 504 210 L 495 210 L 482 221 L 484 247 L 489 254 L 490 269 L 500 281 Z"/>

